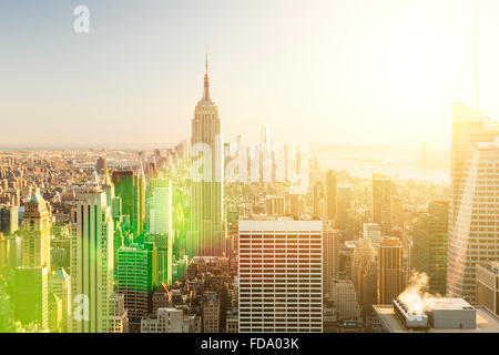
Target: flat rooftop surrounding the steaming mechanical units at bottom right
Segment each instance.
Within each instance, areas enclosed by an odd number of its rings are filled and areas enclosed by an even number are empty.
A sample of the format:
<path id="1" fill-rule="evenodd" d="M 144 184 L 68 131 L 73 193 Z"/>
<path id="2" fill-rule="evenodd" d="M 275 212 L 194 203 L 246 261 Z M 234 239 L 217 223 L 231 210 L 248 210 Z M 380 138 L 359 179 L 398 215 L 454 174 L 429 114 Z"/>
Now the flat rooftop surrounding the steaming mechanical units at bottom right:
<path id="1" fill-rule="evenodd" d="M 407 329 L 395 315 L 393 305 L 374 305 L 380 322 L 389 333 L 499 333 L 499 318 L 482 307 L 477 310 L 477 327 L 475 329 Z"/>

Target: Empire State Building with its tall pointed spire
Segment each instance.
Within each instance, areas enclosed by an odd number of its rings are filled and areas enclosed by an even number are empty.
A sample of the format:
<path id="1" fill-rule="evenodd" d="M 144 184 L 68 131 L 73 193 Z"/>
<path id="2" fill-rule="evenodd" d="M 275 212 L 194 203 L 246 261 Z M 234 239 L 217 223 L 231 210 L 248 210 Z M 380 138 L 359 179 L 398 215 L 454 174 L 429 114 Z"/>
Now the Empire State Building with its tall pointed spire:
<path id="1" fill-rule="evenodd" d="M 187 255 L 221 256 L 225 252 L 223 217 L 223 138 L 218 108 L 210 97 L 208 61 L 204 74 L 203 98 L 192 120 L 191 227 Z"/>

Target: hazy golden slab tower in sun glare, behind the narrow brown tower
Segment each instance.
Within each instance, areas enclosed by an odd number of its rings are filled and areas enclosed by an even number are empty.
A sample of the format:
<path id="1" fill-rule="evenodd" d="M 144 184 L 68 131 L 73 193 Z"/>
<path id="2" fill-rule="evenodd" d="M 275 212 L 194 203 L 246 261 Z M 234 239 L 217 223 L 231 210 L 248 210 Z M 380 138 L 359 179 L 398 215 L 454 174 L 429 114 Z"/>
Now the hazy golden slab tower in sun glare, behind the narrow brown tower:
<path id="1" fill-rule="evenodd" d="M 373 222 L 381 226 L 384 235 L 391 229 L 391 180 L 373 174 Z"/>

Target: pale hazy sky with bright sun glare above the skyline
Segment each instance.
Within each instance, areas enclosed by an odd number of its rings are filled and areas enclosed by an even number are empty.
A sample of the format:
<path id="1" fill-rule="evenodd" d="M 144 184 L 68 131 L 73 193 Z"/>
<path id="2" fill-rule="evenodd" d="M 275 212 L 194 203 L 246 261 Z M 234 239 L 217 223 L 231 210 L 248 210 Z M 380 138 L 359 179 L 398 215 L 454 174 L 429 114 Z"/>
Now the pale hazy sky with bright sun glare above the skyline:
<path id="1" fill-rule="evenodd" d="M 499 1 L 479 2 L 480 108 L 499 118 Z M 472 0 L 1 0 L 0 146 L 189 138 L 206 44 L 226 141 L 268 123 L 279 142 L 447 145 L 472 30 Z"/>

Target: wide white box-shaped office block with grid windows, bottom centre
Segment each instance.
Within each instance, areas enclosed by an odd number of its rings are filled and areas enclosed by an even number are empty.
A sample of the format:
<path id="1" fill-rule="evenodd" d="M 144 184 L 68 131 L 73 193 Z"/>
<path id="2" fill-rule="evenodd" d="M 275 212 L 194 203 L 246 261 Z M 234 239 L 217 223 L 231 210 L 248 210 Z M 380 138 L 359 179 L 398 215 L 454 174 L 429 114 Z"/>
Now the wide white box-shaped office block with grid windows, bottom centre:
<path id="1" fill-rule="evenodd" d="M 240 221 L 240 332 L 323 331 L 320 221 Z"/>

